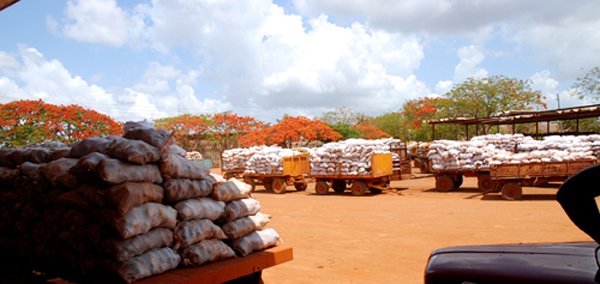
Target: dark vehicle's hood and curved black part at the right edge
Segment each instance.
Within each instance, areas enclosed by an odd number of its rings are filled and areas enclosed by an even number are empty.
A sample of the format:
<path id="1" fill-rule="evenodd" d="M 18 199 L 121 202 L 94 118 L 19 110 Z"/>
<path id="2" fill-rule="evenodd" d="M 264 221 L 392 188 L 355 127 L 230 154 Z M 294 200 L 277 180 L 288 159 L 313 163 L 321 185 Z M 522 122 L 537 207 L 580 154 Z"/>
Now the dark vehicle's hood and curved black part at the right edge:
<path id="1" fill-rule="evenodd" d="M 429 256 L 425 283 L 600 283 L 598 174 L 600 165 L 583 169 L 557 193 L 567 216 L 594 242 L 441 248 Z"/>

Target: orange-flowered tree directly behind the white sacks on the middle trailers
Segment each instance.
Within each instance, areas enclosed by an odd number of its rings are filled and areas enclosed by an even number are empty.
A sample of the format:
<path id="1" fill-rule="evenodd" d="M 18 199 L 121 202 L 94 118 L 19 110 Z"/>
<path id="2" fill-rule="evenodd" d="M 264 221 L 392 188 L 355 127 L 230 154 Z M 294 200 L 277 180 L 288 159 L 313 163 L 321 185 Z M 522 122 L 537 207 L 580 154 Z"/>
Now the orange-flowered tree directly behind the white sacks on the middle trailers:
<path id="1" fill-rule="evenodd" d="M 292 147 L 294 142 L 337 141 L 342 135 L 318 119 L 304 116 L 285 116 L 279 123 L 259 131 L 253 131 L 240 139 L 240 145 L 277 144 Z"/>

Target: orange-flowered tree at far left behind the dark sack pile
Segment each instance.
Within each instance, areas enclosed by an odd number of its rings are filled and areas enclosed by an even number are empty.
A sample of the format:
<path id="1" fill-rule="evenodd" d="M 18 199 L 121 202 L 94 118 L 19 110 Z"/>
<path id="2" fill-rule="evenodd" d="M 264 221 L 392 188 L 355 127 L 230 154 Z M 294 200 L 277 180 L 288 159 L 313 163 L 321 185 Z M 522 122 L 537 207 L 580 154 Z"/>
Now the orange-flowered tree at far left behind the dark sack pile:
<path id="1" fill-rule="evenodd" d="M 111 117 L 78 105 L 53 105 L 42 100 L 0 104 L 0 145 L 71 143 L 93 136 L 121 135 L 123 125 Z"/>

